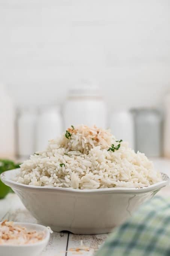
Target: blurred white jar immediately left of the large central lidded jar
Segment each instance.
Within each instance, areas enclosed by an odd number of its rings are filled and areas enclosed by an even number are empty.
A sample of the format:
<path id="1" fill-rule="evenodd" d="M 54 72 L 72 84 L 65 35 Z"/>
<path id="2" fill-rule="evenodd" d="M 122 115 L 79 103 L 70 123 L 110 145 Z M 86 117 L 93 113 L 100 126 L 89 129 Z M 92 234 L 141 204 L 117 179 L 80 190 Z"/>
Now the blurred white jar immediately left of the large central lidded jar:
<path id="1" fill-rule="evenodd" d="M 62 126 L 59 107 L 42 108 L 36 124 L 36 151 L 45 150 L 48 140 L 59 137 L 63 130 Z"/>

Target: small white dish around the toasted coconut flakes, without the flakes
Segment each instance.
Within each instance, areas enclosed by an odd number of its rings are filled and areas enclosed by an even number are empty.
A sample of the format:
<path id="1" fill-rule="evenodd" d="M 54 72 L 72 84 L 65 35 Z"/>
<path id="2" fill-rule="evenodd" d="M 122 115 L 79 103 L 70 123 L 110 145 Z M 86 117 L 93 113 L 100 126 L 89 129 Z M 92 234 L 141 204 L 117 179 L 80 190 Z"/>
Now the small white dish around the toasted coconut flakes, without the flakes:
<path id="1" fill-rule="evenodd" d="M 0 222 L 1 223 L 1 222 Z M 38 256 L 48 244 L 50 239 L 50 230 L 47 227 L 38 224 L 24 223 L 24 222 L 14 222 L 14 225 L 19 225 L 26 227 L 28 230 L 36 230 L 38 232 L 45 232 L 45 238 L 36 242 L 35 244 L 26 245 L 0 245 L 0 255 L 1 256 Z"/>

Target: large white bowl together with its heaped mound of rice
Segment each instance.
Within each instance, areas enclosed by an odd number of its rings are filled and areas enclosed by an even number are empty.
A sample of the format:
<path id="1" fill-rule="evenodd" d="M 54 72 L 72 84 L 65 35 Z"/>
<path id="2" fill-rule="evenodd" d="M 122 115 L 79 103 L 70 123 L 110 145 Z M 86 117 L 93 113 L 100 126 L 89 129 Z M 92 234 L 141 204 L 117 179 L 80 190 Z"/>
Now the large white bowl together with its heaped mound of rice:
<path id="1" fill-rule="evenodd" d="M 86 125 L 72 125 L 1 179 L 40 223 L 77 234 L 110 232 L 169 182 L 110 130 Z"/>

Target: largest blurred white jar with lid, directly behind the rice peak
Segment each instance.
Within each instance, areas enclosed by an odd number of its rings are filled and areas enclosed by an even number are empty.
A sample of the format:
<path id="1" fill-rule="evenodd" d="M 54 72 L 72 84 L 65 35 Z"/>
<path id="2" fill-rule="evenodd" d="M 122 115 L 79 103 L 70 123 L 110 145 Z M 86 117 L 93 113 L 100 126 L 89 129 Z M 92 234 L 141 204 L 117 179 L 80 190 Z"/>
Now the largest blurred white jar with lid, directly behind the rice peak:
<path id="1" fill-rule="evenodd" d="M 107 108 L 98 87 L 69 90 L 63 117 L 65 129 L 78 124 L 107 128 Z"/>

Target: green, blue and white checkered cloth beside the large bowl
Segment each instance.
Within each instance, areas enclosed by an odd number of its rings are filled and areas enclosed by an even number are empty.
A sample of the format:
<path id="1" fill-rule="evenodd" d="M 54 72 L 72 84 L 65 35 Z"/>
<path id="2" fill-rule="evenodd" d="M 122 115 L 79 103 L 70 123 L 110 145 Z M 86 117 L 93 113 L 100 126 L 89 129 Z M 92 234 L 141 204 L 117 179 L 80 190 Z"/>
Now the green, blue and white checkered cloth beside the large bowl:
<path id="1" fill-rule="evenodd" d="M 95 256 L 170 256 L 170 199 L 154 197 L 114 229 Z"/>

